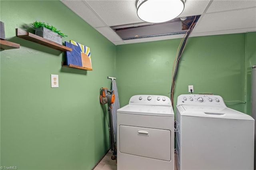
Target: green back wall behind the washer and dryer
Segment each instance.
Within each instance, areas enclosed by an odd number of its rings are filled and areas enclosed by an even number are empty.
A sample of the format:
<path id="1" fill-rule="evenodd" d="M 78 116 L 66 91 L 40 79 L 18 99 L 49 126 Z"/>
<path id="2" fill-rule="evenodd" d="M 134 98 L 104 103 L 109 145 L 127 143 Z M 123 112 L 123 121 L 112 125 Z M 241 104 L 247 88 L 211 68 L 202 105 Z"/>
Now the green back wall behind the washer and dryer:
<path id="1" fill-rule="evenodd" d="M 116 76 L 120 105 L 132 95 L 158 94 L 170 97 L 172 65 L 181 39 L 118 45 Z M 188 38 L 180 62 L 174 105 L 178 95 L 214 93 L 225 101 L 245 101 L 245 34 Z M 226 105 L 244 111 L 245 104 Z M 175 107 L 174 107 L 175 108 Z"/>

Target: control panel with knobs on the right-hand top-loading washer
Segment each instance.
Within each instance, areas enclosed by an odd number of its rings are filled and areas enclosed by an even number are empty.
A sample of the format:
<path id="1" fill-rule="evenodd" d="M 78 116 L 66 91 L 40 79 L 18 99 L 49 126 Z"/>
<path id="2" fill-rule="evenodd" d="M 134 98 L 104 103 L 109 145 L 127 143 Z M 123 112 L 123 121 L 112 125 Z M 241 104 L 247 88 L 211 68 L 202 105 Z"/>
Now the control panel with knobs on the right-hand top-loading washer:
<path id="1" fill-rule="evenodd" d="M 218 95 L 180 95 L 177 100 L 177 106 L 179 105 L 226 107 L 224 100 Z"/>

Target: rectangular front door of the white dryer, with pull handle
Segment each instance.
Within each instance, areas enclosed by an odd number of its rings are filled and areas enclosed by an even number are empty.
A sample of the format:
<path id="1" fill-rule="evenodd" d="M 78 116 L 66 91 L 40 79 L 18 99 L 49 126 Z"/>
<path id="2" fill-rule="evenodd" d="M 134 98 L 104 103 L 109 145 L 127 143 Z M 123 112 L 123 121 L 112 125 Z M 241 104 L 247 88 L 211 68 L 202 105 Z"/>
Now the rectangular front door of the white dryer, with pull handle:
<path id="1" fill-rule="evenodd" d="M 171 160 L 170 130 L 120 125 L 119 141 L 122 153 Z"/>

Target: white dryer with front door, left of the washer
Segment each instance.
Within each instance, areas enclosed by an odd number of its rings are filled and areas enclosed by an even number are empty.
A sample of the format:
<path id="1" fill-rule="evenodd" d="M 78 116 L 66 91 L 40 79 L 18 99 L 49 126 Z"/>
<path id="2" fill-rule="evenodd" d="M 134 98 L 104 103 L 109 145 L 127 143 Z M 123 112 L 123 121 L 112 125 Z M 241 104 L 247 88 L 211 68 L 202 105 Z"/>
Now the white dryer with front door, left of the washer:
<path id="1" fill-rule="evenodd" d="M 117 169 L 174 170 L 174 112 L 160 95 L 135 95 L 117 110 Z"/>

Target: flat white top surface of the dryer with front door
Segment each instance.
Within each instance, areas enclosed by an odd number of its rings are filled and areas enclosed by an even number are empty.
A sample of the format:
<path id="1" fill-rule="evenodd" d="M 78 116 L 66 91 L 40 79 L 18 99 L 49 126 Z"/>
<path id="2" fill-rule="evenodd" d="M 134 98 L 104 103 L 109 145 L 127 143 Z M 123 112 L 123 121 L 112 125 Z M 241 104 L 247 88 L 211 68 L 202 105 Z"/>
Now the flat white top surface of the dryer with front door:
<path id="1" fill-rule="evenodd" d="M 174 117 L 174 112 L 171 106 L 126 105 L 118 109 L 117 113 Z"/>

